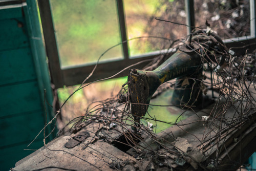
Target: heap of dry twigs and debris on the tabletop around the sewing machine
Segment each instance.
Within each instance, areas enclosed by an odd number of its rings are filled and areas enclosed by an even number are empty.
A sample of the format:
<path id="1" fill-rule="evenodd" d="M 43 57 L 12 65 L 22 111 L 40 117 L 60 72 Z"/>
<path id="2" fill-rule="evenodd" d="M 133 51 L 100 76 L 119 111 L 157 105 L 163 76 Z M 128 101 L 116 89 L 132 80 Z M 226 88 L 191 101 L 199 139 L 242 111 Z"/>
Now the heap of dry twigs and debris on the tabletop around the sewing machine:
<path id="1" fill-rule="evenodd" d="M 176 41 L 174 47 L 184 42 L 185 39 Z M 256 119 L 256 57 L 255 51 L 249 53 L 249 50 L 241 56 L 236 55 L 232 49 L 218 54 L 225 59 L 225 65 L 219 65 L 218 60 L 205 65 L 201 80 L 204 85 L 202 88 L 208 90 L 205 94 L 214 98 L 215 103 L 201 111 L 183 109 L 181 115 L 186 113 L 190 117 L 181 122 L 170 123 L 167 130 L 154 133 L 151 123 L 156 118 L 151 118 L 147 124 L 140 124 L 135 129 L 137 125 L 134 125 L 130 116 L 129 98 L 123 98 L 122 104 L 117 101 L 120 95 L 126 94 L 124 97 L 127 97 L 129 94 L 127 86 L 124 86 L 116 98 L 88 106 L 86 114 L 72 120 L 71 129 L 66 126 L 59 135 L 72 135 L 71 140 L 80 143 L 78 133 L 84 128 L 88 131 L 88 126 L 92 125 L 94 130 L 83 134 L 90 135 L 90 139 L 86 140 L 87 146 L 96 141 L 104 141 L 137 160 L 135 163 L 113 161 L 110 164 L 112 169 L 219 169 L 224 168 L 225 164 L 230 166 L 234 161 L 229 159 L 229 151 L 239 147 L 249 136 L 247 129 L 255 129 L 252 123 Z M 203 58 L 202 56 L 202 60 Z M 216 56 L 216 59 L 219 58 L 220 56 Z M 173 83 L 166 83 L 155 96 L 172 88 Z M 238 129 L 240 127 L 242 129 Z M 241 134 L 243 136 L 239 136 Z"/>

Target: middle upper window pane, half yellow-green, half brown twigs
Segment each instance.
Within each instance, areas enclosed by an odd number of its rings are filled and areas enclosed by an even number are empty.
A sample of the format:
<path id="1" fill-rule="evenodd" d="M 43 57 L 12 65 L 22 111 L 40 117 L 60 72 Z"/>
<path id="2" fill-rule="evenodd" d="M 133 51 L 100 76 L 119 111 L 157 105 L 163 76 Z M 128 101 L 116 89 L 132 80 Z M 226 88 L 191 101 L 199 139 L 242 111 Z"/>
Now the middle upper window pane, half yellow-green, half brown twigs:
<path id="1" fill-rule="evenodd" d="M 130 40 L 130 55 L 167 49 L 170 41 L 163 38 L 175 40 L 186 35 L 185 26 L 155 19 L 157 17 L 186 24 L 184 0 L 125 0 L 124 10 L 128 39 L 140 36 L 162 37 Z"/>

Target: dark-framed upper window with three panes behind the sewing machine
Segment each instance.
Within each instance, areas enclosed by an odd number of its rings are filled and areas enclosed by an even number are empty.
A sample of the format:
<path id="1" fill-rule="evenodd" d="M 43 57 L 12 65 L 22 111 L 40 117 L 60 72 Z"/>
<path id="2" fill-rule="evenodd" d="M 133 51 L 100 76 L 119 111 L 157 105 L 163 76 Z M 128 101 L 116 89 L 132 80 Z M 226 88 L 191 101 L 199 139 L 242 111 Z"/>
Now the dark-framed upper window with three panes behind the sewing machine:
<path id="1" fill-rule="evenodd" d="M 119 44 L 102 56 L 88 82 L 112 76 L 138 61 L 166 53 L 172 40 L 189 34 L 194 26 L 204 25 L 206 19 L 212 29 L 223 32 L 221 36 L 228 47 L 241 47 L 241 41 L 253 44 L 255 0 L 220 2 L 38 0 L 52 81 L 56 88 L 80 84 L 91 73 L 98 57 Z M 246 23 L 243 27 L 242 22 Z M 236 30 L 238 27 L 244 30 Z M 124 71 L 118 76 L 127 74 Z"/>

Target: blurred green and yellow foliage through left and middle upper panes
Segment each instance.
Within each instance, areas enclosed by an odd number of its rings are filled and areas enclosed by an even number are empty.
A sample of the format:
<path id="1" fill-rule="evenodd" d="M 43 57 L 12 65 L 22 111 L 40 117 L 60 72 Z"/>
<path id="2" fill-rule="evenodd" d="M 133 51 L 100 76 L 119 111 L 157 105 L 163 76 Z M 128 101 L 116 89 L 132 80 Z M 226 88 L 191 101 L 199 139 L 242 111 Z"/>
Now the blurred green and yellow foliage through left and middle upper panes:
<path id="1" fill-rule="evenodd" d="M 116 2 L 114 0 L 51 0 L 53 21 L 61 66 L 95 62 L 110 47 L 121 42 Z M 162 30 L 152 35 L 152 19 L 163 16 L 169 2 L 166 0 L 125 0 L 124 12 L 127 38 L 140 36 L 161 36 Z M 166 14 L 165 14 L 166 15 Z M 153 23 L 153 25 L 155 25 Z M 155 27 L 155 26 L 154 26 Z M 130 55 L 137 55 L 162 49 L 152 44 L 152 38 L 129 41 Z M 155 40 L 156 41 L 156 40 Z M 122 58 L 122 46 L 104 54 L 102 60 Z"/>

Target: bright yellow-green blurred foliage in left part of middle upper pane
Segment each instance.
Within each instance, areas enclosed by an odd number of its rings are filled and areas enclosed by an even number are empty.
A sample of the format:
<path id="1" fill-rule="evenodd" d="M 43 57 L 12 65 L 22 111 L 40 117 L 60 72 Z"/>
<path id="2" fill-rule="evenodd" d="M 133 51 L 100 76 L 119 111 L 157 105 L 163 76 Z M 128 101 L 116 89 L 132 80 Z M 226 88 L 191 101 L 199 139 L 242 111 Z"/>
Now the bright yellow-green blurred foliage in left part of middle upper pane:
<path id="1" fill-rule="evenodd" d="M 135 5 L 136 4 L 136 5 Z M 152 17 L 159 17 L 162 6 L 161 1 L 124 1 L 125 21 L 127 29 L 127 38 L 141 36 L 156 36 L 148 35 L 147 28 Z M 140 38 L 129 41 L 130 55 L 143 54 L 159 50 L 159 47 L 154 47 L 150 38 Z"/>

